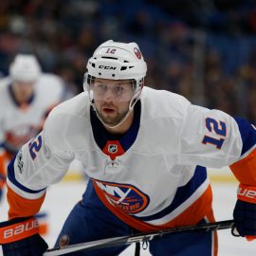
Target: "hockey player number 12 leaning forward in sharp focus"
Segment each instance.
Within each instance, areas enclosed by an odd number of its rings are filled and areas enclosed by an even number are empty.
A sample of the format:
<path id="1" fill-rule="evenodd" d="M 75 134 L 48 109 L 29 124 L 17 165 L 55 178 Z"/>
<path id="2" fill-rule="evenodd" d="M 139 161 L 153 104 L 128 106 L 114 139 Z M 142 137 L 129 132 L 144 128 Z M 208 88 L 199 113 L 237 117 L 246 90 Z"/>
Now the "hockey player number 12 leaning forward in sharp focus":
<path id="1" fill-rule="evenodd" d="M 236 229 L 256 238 L 255 127 L 174 93 L 143 87 L 147 66 L 136 43 L 105 42 L 87 69 L 84 92 L 58 105 L 44 130 L 9 164 L 9 221 L 0 229 L 4 255 L 46 250 L 32 216 L 46 188 L 63 178 L 74 158 L 90 181 L 57 246 L 214 221 L 205 167 L 222 166 L 230 166 L 240 181 Z M 25 228 L 17 234 L 17 227 Z M 118 255 L 124 248 L 74 255 Z M 161 256 L 217 255 L 217 235 L 173 234 L 152 240 L 149 249 Z"/>

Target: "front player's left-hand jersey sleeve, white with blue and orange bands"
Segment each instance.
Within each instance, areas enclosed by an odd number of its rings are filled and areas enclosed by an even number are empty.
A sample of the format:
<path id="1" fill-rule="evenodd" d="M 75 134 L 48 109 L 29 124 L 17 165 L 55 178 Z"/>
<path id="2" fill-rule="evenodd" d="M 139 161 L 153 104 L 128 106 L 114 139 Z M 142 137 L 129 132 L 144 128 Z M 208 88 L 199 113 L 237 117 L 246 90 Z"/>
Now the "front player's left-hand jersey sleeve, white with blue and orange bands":
<path id="1" fill-rule="evenodd" d="M 54 147 L 56 137 L 50 120 L 44 130 L 28 141 L 8 167 L 9 218 L 31 216 L 40 210 L 46 188 L 59 182 L 73 159 L 68 152 Z M 57 138 L 55 138 L 57 139 Z"/>

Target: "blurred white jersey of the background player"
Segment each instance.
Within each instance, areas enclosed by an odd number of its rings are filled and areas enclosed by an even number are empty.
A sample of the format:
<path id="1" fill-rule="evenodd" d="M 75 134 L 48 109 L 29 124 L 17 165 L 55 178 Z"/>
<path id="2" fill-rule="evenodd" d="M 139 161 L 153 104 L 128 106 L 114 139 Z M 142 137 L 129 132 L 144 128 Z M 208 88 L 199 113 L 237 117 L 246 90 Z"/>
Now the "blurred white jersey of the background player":
<path id="1" fill-rule="evenodd" d="M 0 145 L 13 154 L 42 130 L 50 108 L 62 100 L 64 85 L 57 76 L 43 74 L 29 102 L 19 105 L 10 83 L 9 78 L 0 80 Z"/>

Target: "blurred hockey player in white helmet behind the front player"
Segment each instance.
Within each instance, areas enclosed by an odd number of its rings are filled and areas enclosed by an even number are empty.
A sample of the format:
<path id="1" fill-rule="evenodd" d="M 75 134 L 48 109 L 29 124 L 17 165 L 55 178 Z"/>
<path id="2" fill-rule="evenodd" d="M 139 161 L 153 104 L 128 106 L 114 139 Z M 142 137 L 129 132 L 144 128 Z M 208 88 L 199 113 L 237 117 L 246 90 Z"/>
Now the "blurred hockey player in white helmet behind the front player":
<path id="1" fill-rule="evenodd" d="M 63 95 L 62 80 L 42 73 L 34 55 L 16 55 L 9 65 L 9 77 L 0 80 L 1 188 L 10 158 L 29 139 L 39 134 L 46 115 L 62 101 Z"/>

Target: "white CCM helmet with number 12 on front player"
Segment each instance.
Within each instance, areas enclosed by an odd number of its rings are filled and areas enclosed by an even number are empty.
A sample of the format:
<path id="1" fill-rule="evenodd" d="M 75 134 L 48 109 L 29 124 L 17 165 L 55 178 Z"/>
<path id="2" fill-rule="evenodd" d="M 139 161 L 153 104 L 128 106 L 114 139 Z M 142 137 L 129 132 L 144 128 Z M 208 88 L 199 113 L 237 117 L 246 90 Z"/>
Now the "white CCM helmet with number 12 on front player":
<path id="1" fill-rule="evenodd" d="M 113 40 L 101 44 L 86 67 L 88 72 L 85 74 L 85 81 L 88 78 L 135 80 L 136 91 L 142 88 L 147 72 L 147 64 L 136 43 L 126 44 Z M 83 87 L 86 91 L 85 85 Z"/>

